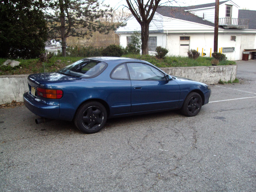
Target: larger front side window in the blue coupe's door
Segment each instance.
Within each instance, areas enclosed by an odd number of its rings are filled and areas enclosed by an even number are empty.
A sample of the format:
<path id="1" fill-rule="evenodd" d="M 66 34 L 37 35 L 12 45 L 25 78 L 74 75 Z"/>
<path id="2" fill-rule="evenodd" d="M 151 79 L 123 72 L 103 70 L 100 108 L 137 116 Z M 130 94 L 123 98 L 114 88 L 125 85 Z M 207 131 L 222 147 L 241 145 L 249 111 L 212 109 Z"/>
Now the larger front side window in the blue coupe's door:
<path id="1" fill-rule="evenodd" d="M 165 80 L 164 73 L 145 63 L 127 63 L 131 80 Z"/>

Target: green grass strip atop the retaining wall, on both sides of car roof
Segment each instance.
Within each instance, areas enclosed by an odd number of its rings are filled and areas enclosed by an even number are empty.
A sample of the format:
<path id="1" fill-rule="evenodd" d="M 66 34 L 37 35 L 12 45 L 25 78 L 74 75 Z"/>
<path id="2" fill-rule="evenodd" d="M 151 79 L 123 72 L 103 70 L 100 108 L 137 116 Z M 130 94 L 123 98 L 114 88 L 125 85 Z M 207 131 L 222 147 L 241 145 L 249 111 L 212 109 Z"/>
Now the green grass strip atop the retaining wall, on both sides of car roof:
<path id="1" fill-rule="evenodd" d="M 165 57 L 164 59 L 157 59 L 155 56 L 151 55 L 136 55 L 127 54 L 123 57 L 129 57 L 134 59 L 146 60 L 156 67 L 193 67 L 193 66 L 212 66 L 210 57 L 198 57 L 196 60 L 189 59 L 188 57 Z M 57 71 L 77 60 L 82 59 L 82 57 L 60 57 L 54 56 L 49 59 L 46 63 L 42 63 L 39 59 L 15 59 L 20 61 L 20 66 L 10 67 L 1 66 L 7 59 L 0 58 L 0 75 L 19 75 L 19 74 L 33 74 L 44 72 Z M 220 61 L 219 65 L 235 65 L 235 61 Z"/>

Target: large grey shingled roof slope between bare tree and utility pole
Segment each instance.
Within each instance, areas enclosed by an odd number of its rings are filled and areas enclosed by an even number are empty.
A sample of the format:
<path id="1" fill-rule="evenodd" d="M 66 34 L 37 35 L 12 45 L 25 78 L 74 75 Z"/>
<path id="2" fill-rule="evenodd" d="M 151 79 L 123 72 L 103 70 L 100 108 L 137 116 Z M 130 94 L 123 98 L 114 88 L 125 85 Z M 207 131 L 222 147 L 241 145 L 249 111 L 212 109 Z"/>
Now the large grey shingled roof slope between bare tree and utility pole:
<path id="1" fill-rule="evenodd" d="M 166 17 L 172 17 L 175 19 L 196 22 L 214 27 L 214 23 L 204 20 L 188 11 L 184 11 L 184 7 L 159 6 L 156 9 L 156 12 Z"/>

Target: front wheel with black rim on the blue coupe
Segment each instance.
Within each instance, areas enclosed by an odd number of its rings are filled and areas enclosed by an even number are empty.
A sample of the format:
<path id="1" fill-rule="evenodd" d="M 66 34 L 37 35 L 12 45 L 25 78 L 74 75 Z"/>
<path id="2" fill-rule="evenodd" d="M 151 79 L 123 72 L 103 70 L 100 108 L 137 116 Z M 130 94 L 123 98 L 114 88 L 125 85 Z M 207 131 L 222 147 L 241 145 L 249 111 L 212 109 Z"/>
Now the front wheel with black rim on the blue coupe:
<path id="1" fill-rule="evenodd" d="M 196 116 L 202 107 L 202 97 L 196 93 L 191 92 L 188 94 L 181 108 L 181 113 L 185 116 Z"/>

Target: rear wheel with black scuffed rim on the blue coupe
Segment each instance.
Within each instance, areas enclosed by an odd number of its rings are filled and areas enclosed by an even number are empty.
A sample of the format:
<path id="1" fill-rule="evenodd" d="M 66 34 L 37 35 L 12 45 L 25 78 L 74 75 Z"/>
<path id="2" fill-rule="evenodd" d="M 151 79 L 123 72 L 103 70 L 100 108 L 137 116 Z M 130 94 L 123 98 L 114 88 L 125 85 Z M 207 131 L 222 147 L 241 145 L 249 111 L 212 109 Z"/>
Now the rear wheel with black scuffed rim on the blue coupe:
<path id="1" fill-rule="evenodd" d="M 76 111 L 74 123 L 84 133 L 100 131 L 107 121 L 106 108 L 97 101 L 82 104 Z"/>

